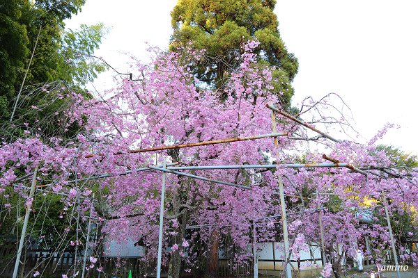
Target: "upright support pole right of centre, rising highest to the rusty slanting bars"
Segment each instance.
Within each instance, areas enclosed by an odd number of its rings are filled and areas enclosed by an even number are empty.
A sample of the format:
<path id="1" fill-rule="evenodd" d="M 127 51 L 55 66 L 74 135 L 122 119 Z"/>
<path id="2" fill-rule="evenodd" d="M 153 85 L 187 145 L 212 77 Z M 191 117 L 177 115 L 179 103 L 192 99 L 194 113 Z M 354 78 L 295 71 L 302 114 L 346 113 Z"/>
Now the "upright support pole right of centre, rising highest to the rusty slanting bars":
<path id="1" fill-rule="evenodd" d="M 274 111 L 272 111 L 272 129 L 273 132 L 277 132 L 276 127 L 276 115 L 274 115 Z M 274 147 L 276 147 L 277 154 L 276 154 L 276 163 L 277 167 L 279 167 L 279 142 L 277 137 L 274 137 Z M 283 228 L 283 240 L 284 240 L 284 268 L 286 270 L 286 277 L 292 278 L 292 269 L 291 264 L 288 261 L 289 257 L 289 236 L 288 236 L 288 227 L 287 227 L 287 217 L 286 217 L 286 204 L 284 203 L 284 188 L 283 188 L 283 179 L 279 174 L 279 195 L 280 195 L 280 207 L 281 207 L 281 226 Z"/>

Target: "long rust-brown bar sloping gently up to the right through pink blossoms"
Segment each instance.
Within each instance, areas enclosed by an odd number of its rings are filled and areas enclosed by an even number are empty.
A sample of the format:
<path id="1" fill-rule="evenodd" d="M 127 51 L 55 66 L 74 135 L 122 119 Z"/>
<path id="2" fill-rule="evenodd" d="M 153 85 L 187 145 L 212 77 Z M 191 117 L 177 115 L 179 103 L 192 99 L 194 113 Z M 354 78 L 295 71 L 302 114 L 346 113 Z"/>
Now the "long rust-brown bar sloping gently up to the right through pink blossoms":
<path id="1" fill-rule="evenodd" d="M 146 149 L 131 149 L 131 150 L 127 151 L 127 153 L 128 154 L 137 154 L 137 153 L 141 153 L 141 152 L 155 152 L 155 151 L 161 151 L 161 150 L 164 150 L 164 149 L 181 149 L 181 148 L 185 148 L 185 147 L 198 147 L 198 146 L 215 145 L 215 144 L 222 144 L 222 143 L 229 143 L 229 142 L 239 142 L 239 141 L 246 141 L 246 140 L 256 140 L 256 139 L 279 137 L 279 136 L 288 136 L 288 133 L 287 132 L 270 133 L 270 134 L 262 134 L 262 135 L 256 135 L 256 136 L 248 136 L 248 137 L 237 137 L 237 138 L 203 141 L 203 142 L 180 144 L 180 145 L 151 147 L 151 148 L 146 148 Z M 123 154 L 123 152 L 116 152 L 115 154 Z M 88 154 L 85 157 L 86 158 L 93 157 L 93 154 Z"/>

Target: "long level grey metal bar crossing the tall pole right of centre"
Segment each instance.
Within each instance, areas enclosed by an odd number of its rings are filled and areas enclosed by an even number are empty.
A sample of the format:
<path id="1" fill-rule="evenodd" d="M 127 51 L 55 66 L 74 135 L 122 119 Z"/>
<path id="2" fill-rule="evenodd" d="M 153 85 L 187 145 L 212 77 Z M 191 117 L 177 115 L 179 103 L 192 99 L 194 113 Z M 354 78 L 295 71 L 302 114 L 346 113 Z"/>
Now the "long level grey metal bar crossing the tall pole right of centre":
<path id="1" fill-rule="evenodd" d="M 285 168 L 317 168 L 317 167 L 346 167 L 348 163 L 291 163 L 279 164 Z M 169 170 L 217 170 L 217 169 L 270 169 L 277 168 L 277 164 L 258 165 L 214 165 L 214 166 L 174 166 L 167 167 Z"/>

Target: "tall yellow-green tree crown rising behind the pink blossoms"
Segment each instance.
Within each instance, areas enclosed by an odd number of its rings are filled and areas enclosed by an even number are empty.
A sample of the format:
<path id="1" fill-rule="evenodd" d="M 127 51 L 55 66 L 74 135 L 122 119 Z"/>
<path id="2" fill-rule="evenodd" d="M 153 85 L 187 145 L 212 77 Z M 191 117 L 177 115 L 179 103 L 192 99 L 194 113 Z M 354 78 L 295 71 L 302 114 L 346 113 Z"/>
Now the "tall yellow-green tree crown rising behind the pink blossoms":
<path id="1" fill-rule="evenodd" d="M 275 4 L 274 0 L 179 0 L 171 12 L 174 32 L 170 49 L 176 51 L 189 43 L 195 49 L 206 49 L 208 59 L 194 69 L 195 74 L 219 88 L 227 73 L 235 69 L 242 44 L 258 40 L 259 57 L 266 66 L 277 67 L 274 86 L 288 106 L 298 63 L 281 40 Z"/>

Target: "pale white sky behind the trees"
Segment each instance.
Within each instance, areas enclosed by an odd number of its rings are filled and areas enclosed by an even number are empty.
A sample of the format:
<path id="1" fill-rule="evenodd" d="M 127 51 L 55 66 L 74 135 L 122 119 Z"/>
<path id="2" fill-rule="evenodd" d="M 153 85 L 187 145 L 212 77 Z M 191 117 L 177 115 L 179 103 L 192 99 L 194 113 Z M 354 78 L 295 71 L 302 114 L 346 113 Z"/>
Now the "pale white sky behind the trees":
<path id="1" fill-rule="evenodd" d="M 87 0 L 66 22 L 103 22 L 111 30 L 96 53 L 130 72 L 125 53 L 146 59 L 146 44 L 167 48 L 176 0 Z M 371 138 L 386 122 L 400 124 L 383 143 L 418 154 L 418 1 L 277 0 L 279 31 L 299 60 L 293 86 L 297 104 L 336 92 L 350 106 L 355 127 Z M 111 88 L 109 74 L 95 81 Z M 337 134 L 334 134 L 337 138 Z"/>

